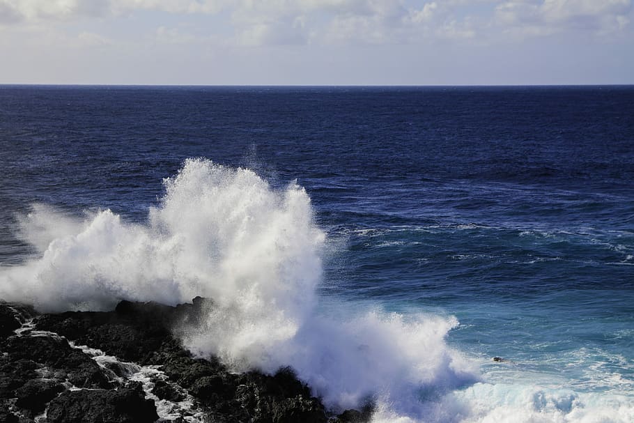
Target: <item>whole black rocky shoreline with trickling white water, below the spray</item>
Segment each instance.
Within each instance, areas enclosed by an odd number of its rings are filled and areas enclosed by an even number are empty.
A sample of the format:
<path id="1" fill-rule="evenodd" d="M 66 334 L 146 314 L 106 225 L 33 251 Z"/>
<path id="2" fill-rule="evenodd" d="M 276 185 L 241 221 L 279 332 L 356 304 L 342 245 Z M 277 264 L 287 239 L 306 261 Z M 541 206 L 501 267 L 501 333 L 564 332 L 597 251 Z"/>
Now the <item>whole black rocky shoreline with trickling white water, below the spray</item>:
<path id="1" fill-rule="evenodd" d="M 113 312 L 38 314 L 0 303 L 0 422 L 360 423 L 327 410 L 292 369 L 229 371 L 173 335 L 212 302 L 120 302 Z"/>

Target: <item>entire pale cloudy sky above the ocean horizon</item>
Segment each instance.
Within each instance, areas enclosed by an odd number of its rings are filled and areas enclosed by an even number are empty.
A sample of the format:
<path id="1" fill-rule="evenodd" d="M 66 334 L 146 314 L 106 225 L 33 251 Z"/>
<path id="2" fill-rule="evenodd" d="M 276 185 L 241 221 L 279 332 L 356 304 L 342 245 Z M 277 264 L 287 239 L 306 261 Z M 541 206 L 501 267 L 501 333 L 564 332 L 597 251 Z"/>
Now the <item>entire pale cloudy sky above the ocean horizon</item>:
<path id="1" fill-rule="evenodd" d="M 633 0 L 0 0 L 0 84 L 634 84 Z"/>

